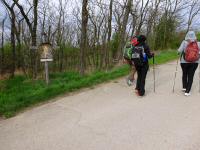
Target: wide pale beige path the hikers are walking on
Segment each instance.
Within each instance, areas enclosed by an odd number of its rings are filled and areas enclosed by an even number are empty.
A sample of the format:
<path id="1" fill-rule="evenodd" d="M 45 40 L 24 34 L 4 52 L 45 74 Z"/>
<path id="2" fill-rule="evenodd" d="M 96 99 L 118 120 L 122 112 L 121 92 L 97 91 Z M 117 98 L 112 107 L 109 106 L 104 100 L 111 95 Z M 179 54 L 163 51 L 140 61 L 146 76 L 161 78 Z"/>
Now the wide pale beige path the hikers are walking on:
<path id="1" fill-rule="evenodd" d="M 148 72 L 146 96 L 124 78 L 64 97 L 0 122 L 0 150 L 200 150 L 198 70 L 192 96 L 176 62 Z"/>

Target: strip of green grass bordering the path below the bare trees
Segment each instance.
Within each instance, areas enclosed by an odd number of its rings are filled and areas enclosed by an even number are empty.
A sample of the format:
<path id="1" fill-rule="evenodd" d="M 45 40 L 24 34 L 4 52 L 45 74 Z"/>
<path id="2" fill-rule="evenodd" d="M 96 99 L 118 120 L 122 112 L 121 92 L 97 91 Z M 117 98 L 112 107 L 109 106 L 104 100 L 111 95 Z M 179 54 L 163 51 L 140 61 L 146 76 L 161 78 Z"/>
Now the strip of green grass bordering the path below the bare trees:
<path id="1" fill-rule="evenodd" d="M 155 60 L 156 64 L 162 64 L 176 58 L 176 51 L 166 51 L 159 53 Z M 50 75 L 49 86 L 46 86 L 43 80 L 32 81 L 24 76 L 0 81 L 0 114 L 6 118 L 12 117 L 34 104 L 125 76 L 128 72 L 129 67 L 123 65 L 109 72 L 98 71 L 83 77 L 77 72 L 54 73 Z"/>

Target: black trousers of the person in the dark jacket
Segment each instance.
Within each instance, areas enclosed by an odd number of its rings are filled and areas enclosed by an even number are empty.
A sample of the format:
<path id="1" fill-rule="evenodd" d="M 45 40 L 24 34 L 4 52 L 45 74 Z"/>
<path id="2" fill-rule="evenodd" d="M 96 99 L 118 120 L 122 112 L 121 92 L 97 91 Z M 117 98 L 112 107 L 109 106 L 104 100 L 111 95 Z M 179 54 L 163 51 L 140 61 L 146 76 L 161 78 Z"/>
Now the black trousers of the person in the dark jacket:
<path id="1" fill-rule="evenodd" d="M 149 69 L 148 64 L 145 64 L 141 67 L 136 67 L 137 75 L 138 75 L 136 90 L 138 90 L 140 96 L 143 96 L 145 94 L 145 80 L 146 80 L 148 69 Z"/>

